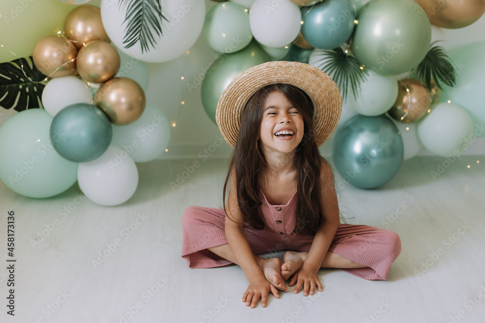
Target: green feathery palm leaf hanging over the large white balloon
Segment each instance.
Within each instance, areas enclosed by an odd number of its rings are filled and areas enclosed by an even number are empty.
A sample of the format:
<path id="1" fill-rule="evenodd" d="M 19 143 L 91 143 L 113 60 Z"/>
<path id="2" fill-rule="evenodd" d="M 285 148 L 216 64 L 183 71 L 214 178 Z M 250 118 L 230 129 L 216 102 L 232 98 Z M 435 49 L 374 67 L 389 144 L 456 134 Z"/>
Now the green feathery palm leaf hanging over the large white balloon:
<path id="1" fill-rule="evenodd" d="M 125 0 L 119 0 L 119 6 Z M 125 48 L 134 46 L 140 42 L 142 47 L 142 54 L 144 51 L 149 51 L 150 46 L 155 47 L 155 33 L 162 36 L 162 19 L 167 18 L 162 15 L 162 6 L 159 0 L 129 0 L 125 22 L 128 25 L 125 28 L 125 37 L 123 37 L 123 44 Z M 148 45 L 149 43 L 149 45 Z"/>

